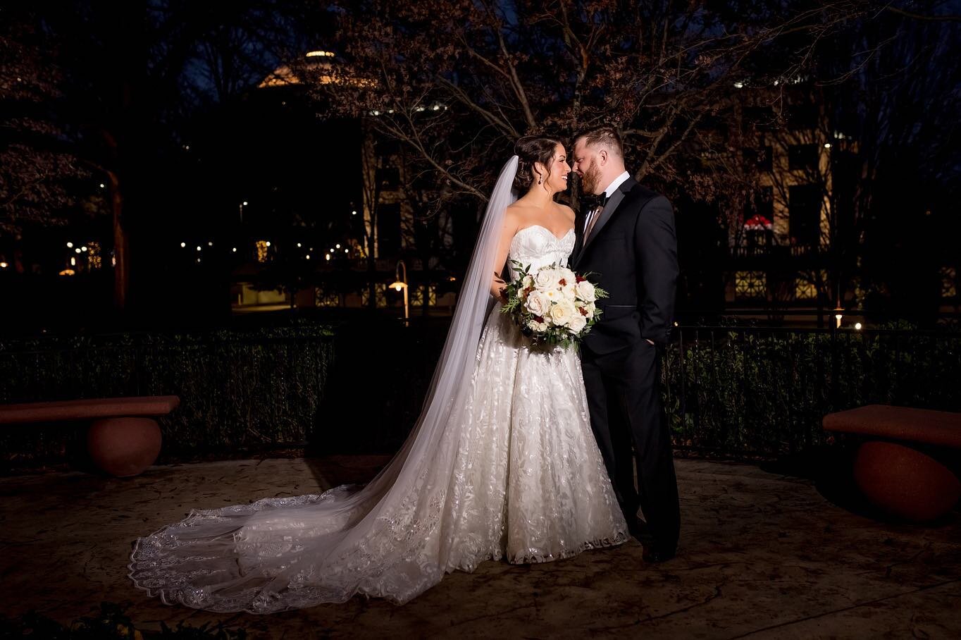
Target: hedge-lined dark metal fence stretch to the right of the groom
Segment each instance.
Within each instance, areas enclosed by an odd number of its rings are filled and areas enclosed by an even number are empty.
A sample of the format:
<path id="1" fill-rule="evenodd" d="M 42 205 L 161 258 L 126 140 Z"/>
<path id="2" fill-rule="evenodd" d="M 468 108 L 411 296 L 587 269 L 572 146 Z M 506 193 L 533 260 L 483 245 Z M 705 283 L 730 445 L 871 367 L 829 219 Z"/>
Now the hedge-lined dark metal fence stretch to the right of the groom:
<path id="1" fill-rule="evenodd" d="M 831 411 L 961 410 L 961 333 L 681 327 L 662 378 L 679 449 L 794 454 Z"/>

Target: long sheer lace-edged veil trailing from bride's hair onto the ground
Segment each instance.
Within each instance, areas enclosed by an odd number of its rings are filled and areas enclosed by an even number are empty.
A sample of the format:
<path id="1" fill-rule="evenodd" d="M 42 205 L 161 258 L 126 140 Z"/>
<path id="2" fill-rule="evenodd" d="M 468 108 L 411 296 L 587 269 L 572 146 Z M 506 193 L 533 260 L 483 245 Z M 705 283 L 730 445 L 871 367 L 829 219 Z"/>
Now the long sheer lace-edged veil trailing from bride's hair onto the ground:
<path id="1" fill-rule="evenodd" d="M 345 602 L 357 593 L 403 603 L 443 577 L 450 550 L 425 532 L 451 499 L 517 165 L 517 156 L 507 161 L 491 193 L 421 415 L 382 472 L 362 488 L 191 511 L 136 541 L 129 569 L 137 587 L 165 603 L 269 613 Z"/>

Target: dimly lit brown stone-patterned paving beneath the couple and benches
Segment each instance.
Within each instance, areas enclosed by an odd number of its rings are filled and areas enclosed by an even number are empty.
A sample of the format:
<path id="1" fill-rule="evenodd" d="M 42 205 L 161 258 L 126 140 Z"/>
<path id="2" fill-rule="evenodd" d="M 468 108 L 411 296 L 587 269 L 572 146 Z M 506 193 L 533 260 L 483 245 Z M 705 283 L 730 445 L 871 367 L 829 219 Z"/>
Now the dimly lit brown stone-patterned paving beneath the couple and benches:
<path id="1" fill-rule="evenodd" d="M 129 480 L 49 473 L 0 480 L 0 615 L 62 622 L 132 603 L 138 628 L 228 621 L 252 638 L 961 637 L 961 514 L 885 524 L 828 502 L 810 480 L 679 459 L 678 557 L 634 541 L 540 565 L 485 562 L 404 606 L 355 598 L 271 616 L 167 606 L 126 578 L 137 536 L 257 498 L 365 480 L 385 458 L 157 466 Z"/>

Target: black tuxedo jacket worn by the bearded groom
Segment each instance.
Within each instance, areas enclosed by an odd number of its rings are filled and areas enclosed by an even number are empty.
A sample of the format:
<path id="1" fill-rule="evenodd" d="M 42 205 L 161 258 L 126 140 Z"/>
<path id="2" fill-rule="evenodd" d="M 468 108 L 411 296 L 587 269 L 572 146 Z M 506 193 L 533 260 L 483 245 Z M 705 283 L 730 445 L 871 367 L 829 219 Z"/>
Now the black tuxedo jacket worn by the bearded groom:
<path id="1" fill-rule="evenodd" d="M 571 266 L 589 273 L 609 297 L 583 344 L 598 355 L 647 338 L 670 339 L 678 283 L 678 238 L 670 201 L 628 178 L 611 194 L 586 241 L 578 216 Z"/>

